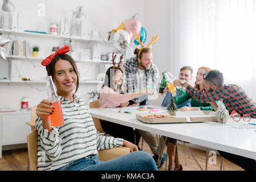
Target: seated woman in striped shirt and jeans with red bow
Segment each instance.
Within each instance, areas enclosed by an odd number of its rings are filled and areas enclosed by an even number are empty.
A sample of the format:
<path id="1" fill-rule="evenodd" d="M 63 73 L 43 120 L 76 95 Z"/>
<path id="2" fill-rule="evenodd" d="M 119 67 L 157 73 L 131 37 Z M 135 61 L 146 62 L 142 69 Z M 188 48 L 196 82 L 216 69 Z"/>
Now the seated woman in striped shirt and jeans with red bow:
<path id="1" fill-rule="evenodd" d="M 73 94 L 79 88 L 79 74 L 72 57 L 57 51 L 42 64 L 46 65 L 48 76 L 52 76 L 55 82 L 62 102 L 64 125 L 51 126 L 50 118 L 45 115 L 53 114 L 55 108 L 50 101 L 41 101 L 36 109 L 35 122 L 38 130 L 38 169 L 157 170 L 152 156 L 138 151 L 135 144 L 121 138 L 96 134 L 86 102 Z M 120 146 L 129 147 L 131 153 L 108 162 L 101 162 L 97 158 L 98 150 Z"/>

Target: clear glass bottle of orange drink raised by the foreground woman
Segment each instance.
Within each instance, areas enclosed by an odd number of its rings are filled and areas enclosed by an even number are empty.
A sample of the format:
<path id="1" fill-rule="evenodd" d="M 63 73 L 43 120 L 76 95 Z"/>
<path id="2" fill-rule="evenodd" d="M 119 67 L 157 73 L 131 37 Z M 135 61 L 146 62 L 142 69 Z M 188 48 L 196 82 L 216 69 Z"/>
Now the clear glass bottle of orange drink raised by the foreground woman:
<path id="1" fill-rule="evenodd" d="M 56 86 L 54 85 L 54 82 L 52 81 L 51 76 L 46 77 L 46 86 L 47 86 L 47 95 L 48 100 L 52 102 L 52 106 L 55 107 L 55 112 L 51 114 L 50 120 L 51 120 L 51 126 L 62 126 L 64 125 L 64 119 L 62 114 L 62 106 L 60 105 L 60 100 L 56 92 Z M 47 108 L 48 109 L 48 108 Z"/>

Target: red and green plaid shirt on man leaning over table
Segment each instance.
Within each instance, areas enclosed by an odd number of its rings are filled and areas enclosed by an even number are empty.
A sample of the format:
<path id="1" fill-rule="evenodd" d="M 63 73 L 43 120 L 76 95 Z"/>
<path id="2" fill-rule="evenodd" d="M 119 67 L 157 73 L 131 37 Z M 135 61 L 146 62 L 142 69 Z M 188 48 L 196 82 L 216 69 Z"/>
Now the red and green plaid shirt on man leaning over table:
<path id="1" fill-rule="evenodd" d="M 189 85 L 186 91 L 198 102 L 223 100 L 229 113 L 235 110 L 241 116 L 243 114 L 250 114 L 252 118 L 256 118 L 256 103 L 247 95 L 241 86 L 230 84 L 214 92 L 202 92 Z"/>

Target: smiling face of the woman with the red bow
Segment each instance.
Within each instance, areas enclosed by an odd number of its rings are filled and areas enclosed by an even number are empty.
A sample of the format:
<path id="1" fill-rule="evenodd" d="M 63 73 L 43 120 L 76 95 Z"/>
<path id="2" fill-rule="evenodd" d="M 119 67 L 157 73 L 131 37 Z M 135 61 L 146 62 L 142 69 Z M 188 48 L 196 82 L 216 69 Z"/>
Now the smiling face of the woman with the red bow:
<path id="1" fill-rule="evenodd" d="M 78 76 L 72 64 L 63 59 L 59 59 L 55 63 L 54 82 L 59 95 L 66 95 L 72 93 L 76 87 Z"/>

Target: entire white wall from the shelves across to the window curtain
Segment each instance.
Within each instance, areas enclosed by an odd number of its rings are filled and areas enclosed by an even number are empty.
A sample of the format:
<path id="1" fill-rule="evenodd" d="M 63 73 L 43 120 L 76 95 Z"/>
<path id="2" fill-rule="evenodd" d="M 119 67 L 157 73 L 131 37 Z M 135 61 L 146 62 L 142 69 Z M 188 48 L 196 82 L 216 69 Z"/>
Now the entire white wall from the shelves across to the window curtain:
<path id="1" fill-rule="evenodd" d="M 172 71 L 172 55 L 170 53 L 171 36 L 170 36 L 170 1 L 162 0 L 161 3 L 156 0 L 132 0 L 132 1 L 119 1 L 119 0 L 97 0 L 97 1 L 29 1 L 29 0 L 13 0 L 11 1 L 15 5 L 15 11 L 22 11 L 22 16 L 25 21 L 23 27 L 25 30 L 34 31 L 49 31 L 50 23 L 59 23 L 60 18 L 64 15 L 68 16 L 71 22 L 72 10 L 78 5 L 84 7 L 84 13 L 87 19 L 92 22 L 92 29 L 99 30 L 101 35 L 107 37 L 107 32 L 112 28 L 116 28 L 125 19 L 130 18 L 133 14 L 139 14 L 139 18 L 142 22 L 142 26 L 147 31 L 148 44 L 151 41 L 152 36 L 158 35 L 159 40 L 153 45 L 153 57 L 154 63 L 159 68 L 160 74 L 164 71 Z M 63 3 L 64 2 L 64 3 Z M 39 17 L 38 3 L 44 3 L 46 5 L 46 17 Z M 27 6 L 23 6 L 26 4 Z M 39 57 L 48 56 L 52 46 L 59 44 L 59 40 L 49 39 L 34 39 L 34 38 L 22 38 L 20 40 L 29 39 L 32 44 L 38 44 L 40 46 Z M 83 45 L 82 45 L 83 46 Z M 85 46 L 85 45 L 84 45 Z M 104 49 L 104 48 L 103 48 Z M 101 50 L 102 51 L 102 50 Z M 104 50 L 103 50 L 104 51 Z M 40 61 L 33 62 L 36 65 L 40 65 Z M 3 65 L 3 64 L 1 64 Z M 84 65 L 84 69 L 87 69 L 90 65 Z M 0 71 L 7 72 L 6 66 L 2 66 Z M 5 68 L 4 68 L 5 67 Z M 95 77 L 99 67 L 94 65 L 93 70 L 90 71 L 87 76 Z M 34 71 L 33 71 L 34 70 Z M 45 71 L 41 69 L 41 72 L 35 71 L 32 65 L 24 61 L 23 73 L 25 77 L 38 74 L 39 77 L 44 77 Z M 45 84 L 32 84 L 39 89 L 44 89 Z M 88 101 L 88 92 L 96 89 L 96 84 L 80 84 L 78 95 L 82 96 Z M 17 91 L 18 90 L 18 91 Z M 38 104 L 40 100 L 46 98 L 46 93 L 33 90 L 25 83 L 22 84 L 3 84 L 0 83 L 0 108 L 10 107 L 12 109 L 19 109 L 21 97 L 29 97 L 30 106 Z M 151 104 L 161 105 L 163 97 L 159 96 L 157 100 L 152 100 Z"/>

